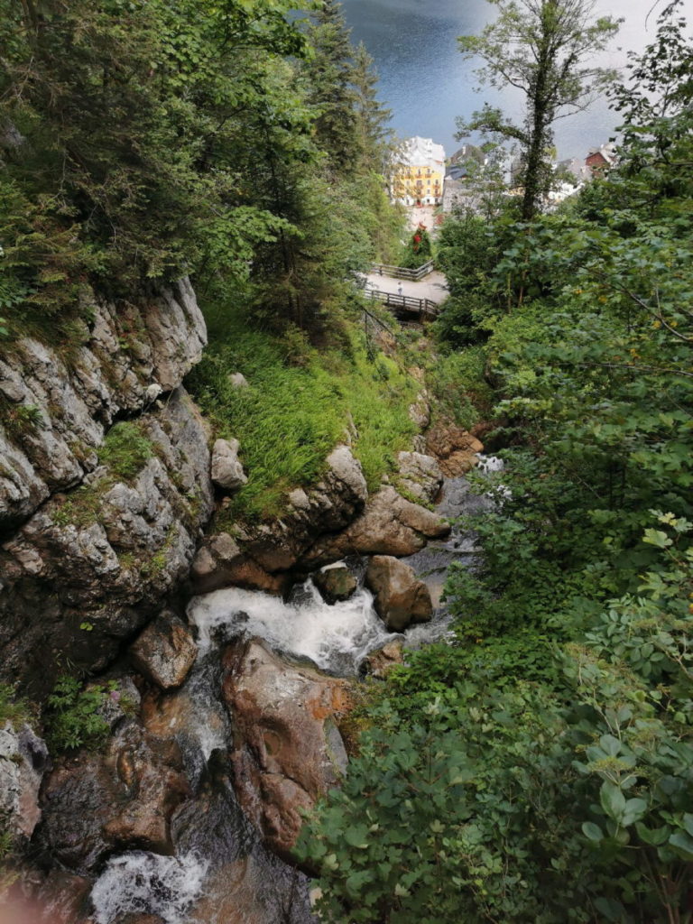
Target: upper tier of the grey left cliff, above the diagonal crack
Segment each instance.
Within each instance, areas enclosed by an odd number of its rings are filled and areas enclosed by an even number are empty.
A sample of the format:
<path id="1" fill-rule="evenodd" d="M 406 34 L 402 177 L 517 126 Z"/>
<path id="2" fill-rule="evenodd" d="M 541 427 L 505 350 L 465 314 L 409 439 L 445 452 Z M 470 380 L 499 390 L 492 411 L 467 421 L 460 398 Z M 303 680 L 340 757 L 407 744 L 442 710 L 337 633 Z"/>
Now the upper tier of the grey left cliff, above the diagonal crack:
<path id="1" fill-rule="evenodd" d="M 69 366 L 30 338 L 0 357 L 0 532 L 79 484 L 116 416 L 146 407 L 152 385 L 175 389 L 207 342 L 187 280 L 137 305 L 85 296 L 83 308 L 93 320 Z"/>

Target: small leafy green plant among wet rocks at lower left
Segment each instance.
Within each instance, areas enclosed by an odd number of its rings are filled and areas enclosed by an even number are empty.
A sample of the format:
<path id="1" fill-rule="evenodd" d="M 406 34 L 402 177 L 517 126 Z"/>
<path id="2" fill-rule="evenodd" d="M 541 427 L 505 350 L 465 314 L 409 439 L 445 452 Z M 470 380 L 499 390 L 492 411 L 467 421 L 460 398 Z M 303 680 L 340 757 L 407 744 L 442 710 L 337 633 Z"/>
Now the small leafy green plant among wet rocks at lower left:
<path id="1" fill-rule="evenodd" d="M 82 688 L 75 677 L 58 677 L 53 693 L 46 700 L 44 713 L 49 747 L 65 751 L 102 745 L 110 726 L 101 711 L 115 689 L 115 682 Z"/>

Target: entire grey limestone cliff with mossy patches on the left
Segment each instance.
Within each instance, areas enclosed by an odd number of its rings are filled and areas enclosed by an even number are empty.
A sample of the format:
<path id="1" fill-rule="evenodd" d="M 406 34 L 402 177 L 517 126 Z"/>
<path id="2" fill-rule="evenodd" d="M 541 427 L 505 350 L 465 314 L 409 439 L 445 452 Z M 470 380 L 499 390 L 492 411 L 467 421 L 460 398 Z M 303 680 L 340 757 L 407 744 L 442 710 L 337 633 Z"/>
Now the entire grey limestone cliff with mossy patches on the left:
<path id="1" fill-rule="evenodd" d="M 67 349 L 27 337 L 0 357 L 0 672 L 34 693 L 114 656 L 186 577 L 212 509 L 181 387 L 206 342 L 188 281 L 82 308 Z M 124 426 L 136 451 L 114 458 Z"/>

